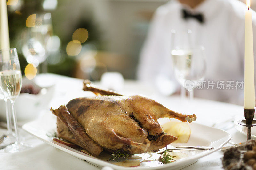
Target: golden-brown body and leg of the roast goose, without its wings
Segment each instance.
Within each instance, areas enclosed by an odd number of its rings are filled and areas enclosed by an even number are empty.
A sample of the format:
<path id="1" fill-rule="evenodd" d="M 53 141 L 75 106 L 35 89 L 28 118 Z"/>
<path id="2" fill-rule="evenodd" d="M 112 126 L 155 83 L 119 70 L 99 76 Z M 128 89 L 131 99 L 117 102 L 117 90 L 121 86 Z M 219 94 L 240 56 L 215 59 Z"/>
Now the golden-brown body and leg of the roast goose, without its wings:
<path id="1" fill-rule="evenodd" d="M 177 140 L 163 132 L 158 118 L 170 117 L 183 122 L 196 119 L 195 115 L 173 112 L 138 95 L 77 98 L 71 100 L 67 108 L 100 146 L 130 154 L 158 150 Z"/>

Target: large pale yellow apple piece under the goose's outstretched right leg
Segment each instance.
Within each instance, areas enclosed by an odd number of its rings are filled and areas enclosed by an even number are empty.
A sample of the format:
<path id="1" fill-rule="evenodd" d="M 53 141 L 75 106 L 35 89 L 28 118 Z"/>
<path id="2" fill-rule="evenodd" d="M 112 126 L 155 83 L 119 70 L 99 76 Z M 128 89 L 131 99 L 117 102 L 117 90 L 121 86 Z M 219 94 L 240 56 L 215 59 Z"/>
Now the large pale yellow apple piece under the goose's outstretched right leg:
<path id="1" fill-rule="evenodd" d="M 184 122 L 168 122 L 162 125 L 165 133 L 178 138 L 174 143 L 187 143 L 190 137 L 190 127 Z"/>

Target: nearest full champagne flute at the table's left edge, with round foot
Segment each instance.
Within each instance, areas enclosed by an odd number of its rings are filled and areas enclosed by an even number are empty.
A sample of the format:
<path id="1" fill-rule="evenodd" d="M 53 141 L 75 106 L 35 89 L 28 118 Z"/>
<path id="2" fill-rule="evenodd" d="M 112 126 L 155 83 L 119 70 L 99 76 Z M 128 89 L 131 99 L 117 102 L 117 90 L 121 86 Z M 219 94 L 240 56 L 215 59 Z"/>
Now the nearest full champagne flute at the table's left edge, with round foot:
<path id="1" fill-rule="evenodd" d="M 18 152 L 28 147 L 20 142 L 15 112 L 15 99 L 19 96 L 22 85 L 20 63 L 16 48 L 0 49 L 0 89 L 4 97 L 11 102 L 16 142 L 6 147 L 7 152 Z"/>

